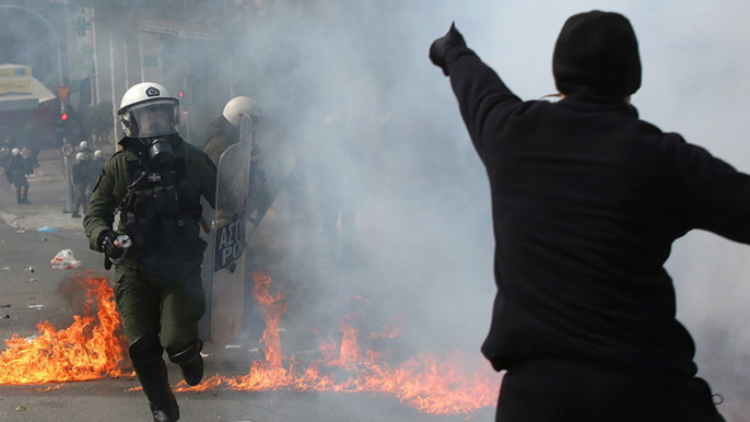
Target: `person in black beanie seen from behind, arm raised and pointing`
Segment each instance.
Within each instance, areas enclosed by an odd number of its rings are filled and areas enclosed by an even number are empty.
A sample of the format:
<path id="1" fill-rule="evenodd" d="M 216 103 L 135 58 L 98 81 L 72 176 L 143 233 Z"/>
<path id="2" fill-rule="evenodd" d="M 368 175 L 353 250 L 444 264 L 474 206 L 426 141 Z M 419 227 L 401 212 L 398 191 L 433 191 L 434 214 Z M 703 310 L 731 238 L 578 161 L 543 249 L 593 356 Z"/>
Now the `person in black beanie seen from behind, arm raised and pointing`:
<path id="1" fill-rule="evenodd" d="M 565 22 L 556 103 L 519 99 L 455 26 L 430 58 L 490 179 L 497 295 L 482 352 L 507 371 L 497 420 L 722 421 L 664 263 L 692 228 L 750 243 L 750 177 L 638 119 L 628 19 Z"/>

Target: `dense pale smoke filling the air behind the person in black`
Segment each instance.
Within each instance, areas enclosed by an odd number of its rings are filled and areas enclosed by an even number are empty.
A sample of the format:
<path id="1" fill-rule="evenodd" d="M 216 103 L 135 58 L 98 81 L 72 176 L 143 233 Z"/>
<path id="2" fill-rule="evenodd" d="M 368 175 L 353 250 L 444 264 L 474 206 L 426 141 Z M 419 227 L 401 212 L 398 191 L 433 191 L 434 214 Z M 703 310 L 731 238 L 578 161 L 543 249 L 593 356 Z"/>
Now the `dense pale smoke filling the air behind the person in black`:
<path id="1" fill-rule="evenodd" d="M 427 48 L 456 21 L 516 94 L 539 98 L 556 92 L 551 56 L 563 22 L 591 9 L 619 11 L 635 27 L 641 117 L 750 171 L 745 2 L 370 1 L 331 10 L 326 21 L 269 13 L 247 28 L 248 45 L 259 49 L 247 49 L 258 72 L 246 80 L 268 87 L 262 101 L 291 122 L 284 136 L 298 142 L 306 171 L 301 200 L 317 210 L 316 224 L 331 212 L 321 202 L 338 203 L 336 235 L 351 236 L 358 250 L 354 268 L 297 281 L 314 285 L 304 300 L 310 315 L 330 309 L 316 306 L 326 290 L 361 291 L 383 315 L 408 310 L 415 343 L 478 353 L 495 292 L 489 189 Z M 750 342 L 749 251 L 695 232 L 678 241 L 668 262 L 701 374 L 725 396 L 747 382 L 734 366 L 747 361 Z"/>

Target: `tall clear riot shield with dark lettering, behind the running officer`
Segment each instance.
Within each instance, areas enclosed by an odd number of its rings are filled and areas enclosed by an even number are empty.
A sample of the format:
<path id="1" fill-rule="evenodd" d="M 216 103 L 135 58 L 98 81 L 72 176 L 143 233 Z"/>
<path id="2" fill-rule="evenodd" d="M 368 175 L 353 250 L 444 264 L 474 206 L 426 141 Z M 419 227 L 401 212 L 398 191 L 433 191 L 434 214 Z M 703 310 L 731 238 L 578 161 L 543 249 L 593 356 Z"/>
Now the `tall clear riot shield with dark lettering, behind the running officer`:
<path id="1" fill-rule="evenodd" d="M 253 152 L 250 125 L 250 116 L 243 116 L 239 142 L 224 151 L 218 166 L 210 294 L 210 336 L 214 343 L 232 340 L 243 323 L 245 221 Z"/>

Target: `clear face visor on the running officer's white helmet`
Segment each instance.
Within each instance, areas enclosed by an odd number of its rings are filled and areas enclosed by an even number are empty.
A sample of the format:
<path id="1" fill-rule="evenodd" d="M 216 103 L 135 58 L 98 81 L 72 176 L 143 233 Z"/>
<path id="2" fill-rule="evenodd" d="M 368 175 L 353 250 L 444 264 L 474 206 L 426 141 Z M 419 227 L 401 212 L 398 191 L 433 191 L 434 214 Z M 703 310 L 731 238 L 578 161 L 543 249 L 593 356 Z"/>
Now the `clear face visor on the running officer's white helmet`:
<path id="1" fill-rule="evenodd" d="M 176 99 L 159 99 L 133 105 L 129 115 L 131 138 L 154 138 L 177 133 L 179 106 Z"/>

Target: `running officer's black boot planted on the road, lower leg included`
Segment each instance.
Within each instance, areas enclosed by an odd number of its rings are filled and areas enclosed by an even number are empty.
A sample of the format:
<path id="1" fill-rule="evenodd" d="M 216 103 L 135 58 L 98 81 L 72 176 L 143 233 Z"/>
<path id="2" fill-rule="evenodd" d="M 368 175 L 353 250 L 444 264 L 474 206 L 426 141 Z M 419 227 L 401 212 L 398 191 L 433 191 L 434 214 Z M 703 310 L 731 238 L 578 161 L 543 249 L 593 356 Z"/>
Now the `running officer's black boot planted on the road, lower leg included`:
<path id="1" fill-rule="evenodd" d="M 143 392 L 149 398 L 149 407 L 154 422 L 176 422 L 179 407 L 172 394 L 166 365 L 162 359 L 164 349 L 156 335 L 141 337 L 130 345 L 130 359 Z"/>

